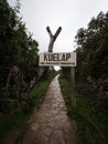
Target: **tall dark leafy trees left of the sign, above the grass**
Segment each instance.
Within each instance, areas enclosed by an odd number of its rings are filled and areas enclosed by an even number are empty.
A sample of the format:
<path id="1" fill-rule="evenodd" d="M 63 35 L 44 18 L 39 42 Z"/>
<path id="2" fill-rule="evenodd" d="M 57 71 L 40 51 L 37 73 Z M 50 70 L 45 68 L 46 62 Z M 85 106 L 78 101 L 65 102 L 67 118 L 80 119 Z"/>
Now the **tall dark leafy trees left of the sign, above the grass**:
<path id="1" fill-rule="evenodd" d="M 39 71 L 39 43 L 19 17 L 17 2 L 11 8 L 0 0 L 0 112 L 11 114 L 22 111 L 22 97 Z"/>

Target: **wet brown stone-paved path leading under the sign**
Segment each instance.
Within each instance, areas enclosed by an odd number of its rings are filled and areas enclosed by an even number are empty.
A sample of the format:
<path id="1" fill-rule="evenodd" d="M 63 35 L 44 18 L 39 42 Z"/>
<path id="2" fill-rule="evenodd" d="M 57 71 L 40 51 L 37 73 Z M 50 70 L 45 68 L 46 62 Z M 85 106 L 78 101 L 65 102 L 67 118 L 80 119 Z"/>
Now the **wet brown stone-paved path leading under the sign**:
<path id="1" fill-rule="evenodd" d="M 58 75 L 53 79 L 41 109 L 33 114 L 24 138 L 19 144 L 79 144 L 66 115 Z"/>

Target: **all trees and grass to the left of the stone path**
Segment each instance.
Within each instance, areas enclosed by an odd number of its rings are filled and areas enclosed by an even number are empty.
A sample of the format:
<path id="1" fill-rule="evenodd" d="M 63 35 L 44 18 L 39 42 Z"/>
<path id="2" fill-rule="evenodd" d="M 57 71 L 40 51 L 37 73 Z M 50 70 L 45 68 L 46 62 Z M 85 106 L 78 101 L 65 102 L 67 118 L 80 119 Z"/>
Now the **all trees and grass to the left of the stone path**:
<path id="1" fill-rule="evenodd" d="M 25 126 L 54 76 L 54 70 L 47 69 L 39 83 L 35 80 L 40 76 L 39 43 L 19 13 L 19 0 L 14 8 L 0 0 L 0 143 L 7 134 Z"/>

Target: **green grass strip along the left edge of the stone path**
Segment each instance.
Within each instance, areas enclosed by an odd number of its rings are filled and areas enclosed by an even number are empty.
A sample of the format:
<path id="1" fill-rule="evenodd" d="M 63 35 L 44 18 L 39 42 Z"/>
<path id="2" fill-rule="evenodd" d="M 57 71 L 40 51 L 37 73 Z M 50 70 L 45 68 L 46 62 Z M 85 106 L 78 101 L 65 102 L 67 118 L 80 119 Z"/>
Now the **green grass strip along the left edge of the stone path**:
<path id="1" fill-rule="evenodd" d="M 24 127 L 32 115 L 34 109 L 39 109 L 44 94 L 47 90 L 47 86 L 53 79 L 54 74 L 50 74 L 46 78 L 42 79 L 31 91 L 30 95 L 35 102 L 35 106 L 30 111 L 24 111 L 22 113 L 13 113 L 6 116 L 1 116 L 0 119 L 0 143 L 2 143 L 3 137 L 10 133 L 11 131 L 15 131 L 17 128 Z"/>

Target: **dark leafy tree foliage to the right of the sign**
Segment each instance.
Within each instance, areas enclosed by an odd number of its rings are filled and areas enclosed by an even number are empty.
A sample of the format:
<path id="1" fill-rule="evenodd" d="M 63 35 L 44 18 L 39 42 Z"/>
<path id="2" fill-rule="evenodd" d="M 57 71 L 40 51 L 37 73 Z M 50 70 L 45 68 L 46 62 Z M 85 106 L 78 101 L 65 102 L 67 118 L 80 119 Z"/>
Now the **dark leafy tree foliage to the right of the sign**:
<path id="1" fill-rule="evenodd" d="M 77 76 L 106 78 L 108 71 L 108 12 L 93 18 L 88 28 L 76 35 L 78 48 Z"/>

